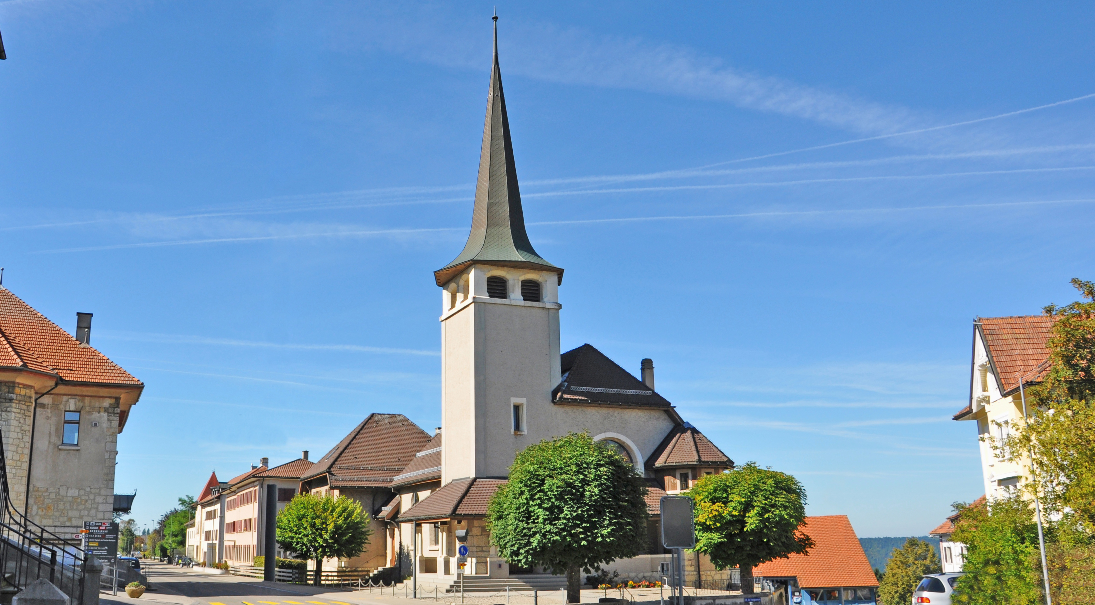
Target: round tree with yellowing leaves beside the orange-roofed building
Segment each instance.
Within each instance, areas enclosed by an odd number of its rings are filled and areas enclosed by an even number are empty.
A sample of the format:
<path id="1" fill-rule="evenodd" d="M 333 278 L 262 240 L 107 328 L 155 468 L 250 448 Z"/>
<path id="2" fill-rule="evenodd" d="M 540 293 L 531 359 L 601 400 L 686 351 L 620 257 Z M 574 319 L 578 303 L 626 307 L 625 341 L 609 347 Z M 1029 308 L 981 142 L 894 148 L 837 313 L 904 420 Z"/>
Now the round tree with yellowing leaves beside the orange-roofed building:
<path id="1" fill-rule="evenodd" d="M 814 547 L 803 533 L 806 490 L 791 475 L 748 463 L 704 477 L 688 494 L 695 501 L 695 550 L 715 569 L 739 566 L 746 594 L 754 567 Z"/>

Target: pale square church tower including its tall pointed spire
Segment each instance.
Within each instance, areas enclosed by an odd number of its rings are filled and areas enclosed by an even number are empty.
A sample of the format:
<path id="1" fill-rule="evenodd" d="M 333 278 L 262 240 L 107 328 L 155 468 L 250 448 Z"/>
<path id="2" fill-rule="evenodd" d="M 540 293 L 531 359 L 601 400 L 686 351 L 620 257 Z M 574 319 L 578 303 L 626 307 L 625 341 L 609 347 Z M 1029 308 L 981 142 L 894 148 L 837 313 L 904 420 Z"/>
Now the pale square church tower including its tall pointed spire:
<path id="1" fill-rule="evenodd" d="M 563 270 L 529 242 L 498 68 L 494 65 L 468 243 L 434 272 L 441 296 L 441 484 L 504 477 L 528 427 L 552 415 Z M 533 431 L 539 433 L 539 431 Z"/>

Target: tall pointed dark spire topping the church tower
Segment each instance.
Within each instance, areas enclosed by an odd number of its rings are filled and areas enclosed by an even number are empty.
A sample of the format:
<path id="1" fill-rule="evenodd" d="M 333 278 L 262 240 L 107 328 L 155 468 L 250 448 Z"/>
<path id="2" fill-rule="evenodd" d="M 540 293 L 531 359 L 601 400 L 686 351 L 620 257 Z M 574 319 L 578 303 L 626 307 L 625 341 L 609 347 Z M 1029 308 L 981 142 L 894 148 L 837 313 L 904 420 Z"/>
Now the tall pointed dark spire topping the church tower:
<path id="1" fill-rule="evenodd" d="M 472 229 L 463 251 L 452 262 L 434 272 L 439 286 L 476 262 L 553 271 L 558 274 L 558 281 L 563 281 L 563 270 L 537 254 L 525 231 L 521 192 L 517 185 L 514 145 L 509 138 L 509 118 L 506 115 L 506 98 L 502 91 L 502 70 L 498 68 L 498 15 L 493 19 L 494 65 L 491 67 Z"/>

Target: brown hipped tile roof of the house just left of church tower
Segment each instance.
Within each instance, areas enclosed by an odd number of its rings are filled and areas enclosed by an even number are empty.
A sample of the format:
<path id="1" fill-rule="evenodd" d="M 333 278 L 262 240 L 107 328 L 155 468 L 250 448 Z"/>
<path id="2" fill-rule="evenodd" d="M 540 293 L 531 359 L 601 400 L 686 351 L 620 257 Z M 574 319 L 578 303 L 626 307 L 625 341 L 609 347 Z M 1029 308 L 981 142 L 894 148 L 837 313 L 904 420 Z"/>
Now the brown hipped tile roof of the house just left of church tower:
<path id="1" fill-rule="evenodd" d="M 326 475 L 335 488 L 390 487 L 429 435 L 403 414 L 369 414 L 301 480 Z"/>

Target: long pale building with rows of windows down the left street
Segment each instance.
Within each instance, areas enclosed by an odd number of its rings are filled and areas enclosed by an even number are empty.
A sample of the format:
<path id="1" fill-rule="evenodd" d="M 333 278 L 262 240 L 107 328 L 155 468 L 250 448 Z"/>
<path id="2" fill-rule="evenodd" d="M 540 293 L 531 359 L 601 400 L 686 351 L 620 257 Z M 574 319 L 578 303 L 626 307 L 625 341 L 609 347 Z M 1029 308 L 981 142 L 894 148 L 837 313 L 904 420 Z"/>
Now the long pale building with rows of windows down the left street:
<path id="1" fill-rule="evenodd" d="M 297 495 L 300 476 L 313 465 L 308 452 L 301 457 L 269 468 L 263 458 L 251 470 L 226 482 L 214 472 L 198 498 L 195 527 L 187 530 L 186 553 L 197 561 L 226 561 L 230 566 L 250 566 L 265 549 L 266 498 L 269 486 L 277 489 L 277 510 Z M 275 545 L 275 556 L 286 553 Z"/>

